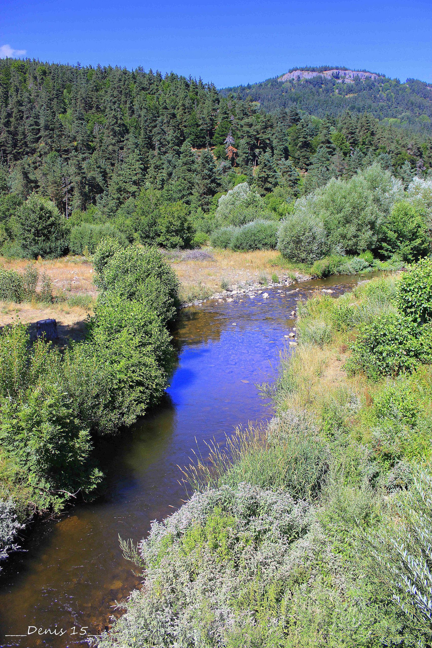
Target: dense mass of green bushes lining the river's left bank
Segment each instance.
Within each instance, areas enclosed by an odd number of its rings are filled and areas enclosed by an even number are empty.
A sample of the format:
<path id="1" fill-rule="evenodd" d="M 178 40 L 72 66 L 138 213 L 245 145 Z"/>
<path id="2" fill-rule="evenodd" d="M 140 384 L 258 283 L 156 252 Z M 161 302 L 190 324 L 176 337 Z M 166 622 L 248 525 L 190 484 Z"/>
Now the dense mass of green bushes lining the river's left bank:
<path id="1" fill-rule="evenodd" d="M 95 438 L 145 414 L 173 368 L 166 324 L 176 315 L 178 283 L 160 253 L 110 238 L 95 251 L 95 268 L 101 294 L 85 341 L 60 353 L 30 343 L 23 325 L 0 332 L 0 501 L 12 502 L 2 552 L 13 547 L 14 515 L 60 511 L 79 494 L 95 494 L 102 479 Z M 0 286 L 16 301 L 43 299 L 37 279 L 32 266 L 23 275 L 2 271 Z"/>

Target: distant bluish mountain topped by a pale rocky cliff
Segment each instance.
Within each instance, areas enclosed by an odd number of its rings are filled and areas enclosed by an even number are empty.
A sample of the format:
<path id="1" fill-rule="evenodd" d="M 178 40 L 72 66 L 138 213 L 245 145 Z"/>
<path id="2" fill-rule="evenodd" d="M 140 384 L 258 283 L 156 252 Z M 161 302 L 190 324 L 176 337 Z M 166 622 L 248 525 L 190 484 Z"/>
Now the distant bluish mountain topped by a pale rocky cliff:
<path id="1" fill-rule="evenodd" d="M 432 86 L 416 79 L 398 79 L 366 70 L 331 65 L 292 68 L 283 75 L 247 86 L 227 87 L 230 93 L 252 99 L 267 111 L 289 108 L 324 117 L 337 117 L 346 109 L 367 111 L 390 124 L 416 132 L 432 132 Z"/>

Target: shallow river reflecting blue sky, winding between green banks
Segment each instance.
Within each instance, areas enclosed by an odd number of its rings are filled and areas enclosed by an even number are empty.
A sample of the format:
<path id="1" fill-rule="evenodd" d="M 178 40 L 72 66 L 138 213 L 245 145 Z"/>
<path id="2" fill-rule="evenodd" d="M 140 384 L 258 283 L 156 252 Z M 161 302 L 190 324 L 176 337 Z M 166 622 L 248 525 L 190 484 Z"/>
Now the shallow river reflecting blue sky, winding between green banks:
<path id="1" fill-rule="evenodd" d="M 165 402 L 103 449 L 106 495 L 39 525 L 27 551 L 1 572 L 1 647 L 64 648 L 83 642 L 82 627 L 97 634 L 108 624 L 115 601 L 140 583 L 122 557 L 119 535 L 136 542 L 151 520 L 182 504 L 178 465 L 189 463 L 195 439 L 205 453 L 204 441 L 271 417 L 254 384 L 272 378 L 299 295 L 318 287 L 338 294 L 357 279 L 293 284 L 269 290 L 269 299 L 208 301 L 183 312 L 178 367 Z M 29 626 L 36 627 L 30 635 Z M 39 634 L 47 629 L 67 632 Z"/>

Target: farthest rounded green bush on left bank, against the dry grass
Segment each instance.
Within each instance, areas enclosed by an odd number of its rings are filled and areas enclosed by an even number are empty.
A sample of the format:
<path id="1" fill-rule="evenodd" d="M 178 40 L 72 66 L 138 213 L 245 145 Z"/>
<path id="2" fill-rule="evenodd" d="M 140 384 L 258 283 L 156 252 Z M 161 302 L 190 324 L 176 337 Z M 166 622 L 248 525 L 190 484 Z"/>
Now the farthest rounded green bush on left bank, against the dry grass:
<path id="1" fill-rule="evenodd" d="M 171 321 L 179 306 L 178 279 L 156 248 L 121 248 L 112 238 L 95 253 L 95 283 L 123 299 L 141 301 L 163 323 Z"/>

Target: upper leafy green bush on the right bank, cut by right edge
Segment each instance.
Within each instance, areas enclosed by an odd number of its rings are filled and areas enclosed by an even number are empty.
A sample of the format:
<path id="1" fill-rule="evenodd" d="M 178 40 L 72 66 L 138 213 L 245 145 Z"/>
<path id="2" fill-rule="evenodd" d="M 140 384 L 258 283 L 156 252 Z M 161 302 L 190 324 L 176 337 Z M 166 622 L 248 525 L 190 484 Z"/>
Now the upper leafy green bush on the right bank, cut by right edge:
<path id="1" fill-rule="evenodd" d="M 416 324 L 432 319 L 432 259 L 422 259 L 403 273 L 397 303 L 400 311 Z"/>

